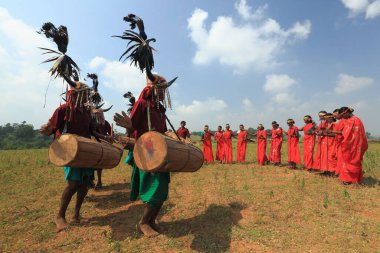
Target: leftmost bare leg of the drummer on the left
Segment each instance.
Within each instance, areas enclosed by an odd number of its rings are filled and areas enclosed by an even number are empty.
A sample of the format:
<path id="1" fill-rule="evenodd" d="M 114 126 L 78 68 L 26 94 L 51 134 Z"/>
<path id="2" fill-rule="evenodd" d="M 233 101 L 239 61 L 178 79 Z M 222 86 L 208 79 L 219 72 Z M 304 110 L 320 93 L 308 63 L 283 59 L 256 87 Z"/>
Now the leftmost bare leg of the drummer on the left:
<path id="1" fill-rule="evenodd" d="M 57 232 L 64 230 L 68 224 L 66 222 L 66 210 L 69 206 L 71 198 L 77 191 L 77 183 L 75 181 L 67 181 L 67 186 L 62 193 L 61 203 L 59 206 L 59 212 L 57 218 L 55 220 L 55 224 L 57 226 Z"/>

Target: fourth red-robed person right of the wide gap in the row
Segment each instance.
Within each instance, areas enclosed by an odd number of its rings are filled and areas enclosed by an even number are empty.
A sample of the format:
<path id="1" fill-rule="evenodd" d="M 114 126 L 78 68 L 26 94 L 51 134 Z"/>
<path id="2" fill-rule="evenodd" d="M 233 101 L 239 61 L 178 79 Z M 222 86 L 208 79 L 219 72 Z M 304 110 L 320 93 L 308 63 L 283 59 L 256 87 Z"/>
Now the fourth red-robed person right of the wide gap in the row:
<path id="1" fill-rule="evenodd" d="M 303 136 L 303 162 L 305 168 L 308 171 L 313 170 L 313 154 L 315 146 L 315 134 L 314 129 L 316 128 L 315 123 L 310 115 L 303 117 L 305 125 L 300 129 L 304 132 Z"/>

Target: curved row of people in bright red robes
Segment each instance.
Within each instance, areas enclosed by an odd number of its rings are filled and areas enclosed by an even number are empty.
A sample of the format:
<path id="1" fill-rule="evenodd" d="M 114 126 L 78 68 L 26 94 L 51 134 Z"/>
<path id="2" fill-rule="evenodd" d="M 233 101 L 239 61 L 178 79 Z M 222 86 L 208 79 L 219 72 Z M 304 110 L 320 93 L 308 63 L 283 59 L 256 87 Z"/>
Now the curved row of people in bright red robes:
<path id="1" fill-rule="evenodd" d="M 357 183 L 362 180 L 362 160 L 368 143 L 361 120 L 354 116 L 353 109 L 342 107 L 334 113 L 319 113 L 320 123 L 317 125 L 312 117 L 304 117 L 305 125 L 302 128 L 295 126 L 293 119 L 289 119 L 288 130 L 285 132 L 276 121 L 272 122 L 270 132 L 270 149 L 266 155 L 267 132 L 260 124 L 255 134 L 248 133 L 243 125 L 240 125 L 238 133 L 230 130 L 229 124 L 225 130 L 219 126 L 215 133 L 206 125 L 201 134 L 205 162 L 213 162 L 212 140 L 214 136 L 217 143 L 215 160 L 223 163 L 232 162 L 232 138 L 237 138 L 236 161 L 245 162 L 247 142 L 251 141 L 248 136 L 257 137 L 257 163 L 265 165 L 272 162 L 275 166 L 281 165 L 281 147 L 284 135 L 288 141 L 288 164 L 295 169 L 301 164 L 301 152 L 299 148 L 300 131 L 303 136 L 303 162 L 304 167 L 310 172 L 322 172 L 323 175 L 340 175 L 340 180 L 345 184 Z M 339 120 L 338 122 L 336 122 Z M 181 126 L 184 128 L 184 126 Z M 181 128 L 178 133 L 181 133 Z M 181 130 L 181 131 L 180 131 Z M 187 137 L 190 136 L 187 130 Z M 316 136 L 318 142 L 316 142 Z M 317 144 L 316 153 L 314 148 Z"/>

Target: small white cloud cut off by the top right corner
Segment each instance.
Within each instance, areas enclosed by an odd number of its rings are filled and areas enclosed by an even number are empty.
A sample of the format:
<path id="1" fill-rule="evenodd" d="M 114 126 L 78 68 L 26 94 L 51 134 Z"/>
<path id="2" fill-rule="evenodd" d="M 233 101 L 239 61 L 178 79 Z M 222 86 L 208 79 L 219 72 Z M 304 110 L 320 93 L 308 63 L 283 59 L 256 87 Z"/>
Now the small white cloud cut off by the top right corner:
<path id="1" fill-rule="evenodd" d="M 366 19 L 380 15 L 380 0 L 341 0 L 341 2 L 349 10 L 349 18 L 354 18 L 362 13 L 365 13 Z"/>

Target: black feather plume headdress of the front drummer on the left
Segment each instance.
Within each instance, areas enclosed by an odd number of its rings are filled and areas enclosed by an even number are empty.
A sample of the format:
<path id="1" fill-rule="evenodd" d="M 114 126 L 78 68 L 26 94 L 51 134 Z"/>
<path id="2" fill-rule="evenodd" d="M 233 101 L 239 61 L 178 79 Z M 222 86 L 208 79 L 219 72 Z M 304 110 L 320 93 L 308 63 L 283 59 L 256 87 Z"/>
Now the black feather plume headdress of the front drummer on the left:
<path id="1" fill-rule="evenodd" d="M 78 65 L 71 59 L 70 56 L 66 55 L 67 46 L 69 44 L 69 35 L 67 33 L 66 26 L 59 26 L 56 28 L 52 23 L 47 22 L 44 23 L 40 29 L 37 31 L 39 34 L 44 34 L 46 38 L 53 39 L 53 41 L 57 44 L 59 52 L 40 47 L 40 49 L 44 50 L 42 54 L 53 54 L 54 56 L 43 61 L 42 63 L 55 61 L 53 66 L 50 68 L 49 73 L 54 78 L 57 76 L 63 77 L 66 75 L 69 78 L 73 78 L 74 80 L 79 80 L 79 67 Z M 76 88 L 76 87 L 74 87 Z"/>

